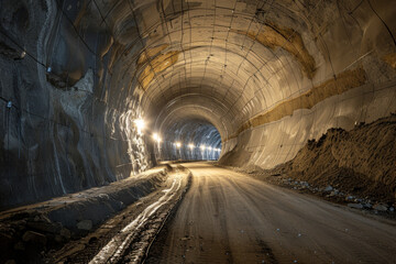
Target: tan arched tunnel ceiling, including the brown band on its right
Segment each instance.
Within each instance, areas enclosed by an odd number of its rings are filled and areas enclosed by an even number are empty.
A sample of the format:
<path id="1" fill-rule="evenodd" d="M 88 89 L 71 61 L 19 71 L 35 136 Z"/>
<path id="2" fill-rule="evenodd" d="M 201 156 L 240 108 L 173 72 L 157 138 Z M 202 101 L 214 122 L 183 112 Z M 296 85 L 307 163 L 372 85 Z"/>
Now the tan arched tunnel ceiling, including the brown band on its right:
<path id="1" fill-rule="evenodd" d="M 186 95 L 212 98 L 184 107 L 183 116 L 210 120 L 226 140 L 364 85 L 371 76 L 356 64 L 362 54 L 371 45 L 385 55 L 394 48 L 381 21 L 367 20 L 364 2 L 125 0 L 100 8 L 122 44 L 122 78 L 130 78 L 147 117 L 169 112 L 169 102 Z M 389 20 L 385 7 L 376 3 Z M 231 124 L 227 133 L 223 121 Z"/>

